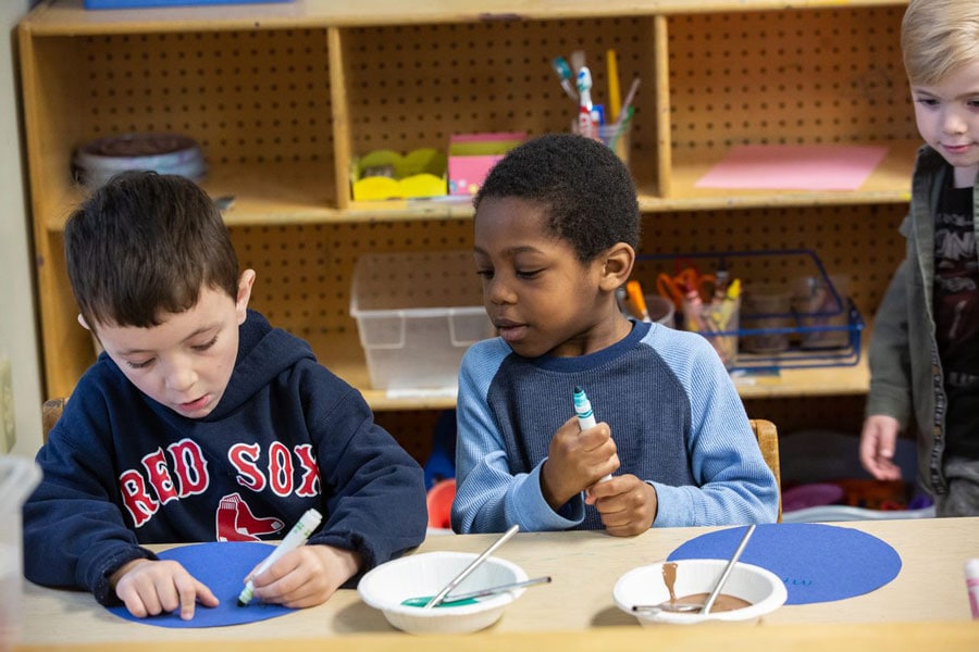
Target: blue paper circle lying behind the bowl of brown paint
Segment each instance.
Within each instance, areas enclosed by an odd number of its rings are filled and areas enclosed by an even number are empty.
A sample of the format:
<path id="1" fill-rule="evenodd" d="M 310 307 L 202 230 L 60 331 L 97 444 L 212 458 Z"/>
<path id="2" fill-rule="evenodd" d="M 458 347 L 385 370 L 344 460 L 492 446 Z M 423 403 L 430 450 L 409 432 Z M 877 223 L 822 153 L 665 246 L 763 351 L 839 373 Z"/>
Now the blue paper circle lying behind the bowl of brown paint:
<path id="1" fill-rule="evenodd" d="M 745 527 L 708 532 L 670 553 L 668 561 L 730 559 Z M 771 570 L 789 591 L 785 604 L 830 602 L 879 589 L 901 572 L 890 544 L 860 530 L 816 523 L 759 525 L 741 561 Z"/>

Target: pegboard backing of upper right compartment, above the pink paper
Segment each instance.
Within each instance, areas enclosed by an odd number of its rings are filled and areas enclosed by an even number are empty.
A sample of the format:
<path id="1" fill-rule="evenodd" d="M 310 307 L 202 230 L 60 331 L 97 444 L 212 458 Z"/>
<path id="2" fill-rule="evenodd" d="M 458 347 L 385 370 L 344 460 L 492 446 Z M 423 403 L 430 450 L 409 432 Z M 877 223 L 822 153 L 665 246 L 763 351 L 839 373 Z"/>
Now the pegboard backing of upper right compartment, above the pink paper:
<path id="1" fill-rule="evenodd" d="M 917 138 L 903 7 L 670 16 L 673 148 Z"/>

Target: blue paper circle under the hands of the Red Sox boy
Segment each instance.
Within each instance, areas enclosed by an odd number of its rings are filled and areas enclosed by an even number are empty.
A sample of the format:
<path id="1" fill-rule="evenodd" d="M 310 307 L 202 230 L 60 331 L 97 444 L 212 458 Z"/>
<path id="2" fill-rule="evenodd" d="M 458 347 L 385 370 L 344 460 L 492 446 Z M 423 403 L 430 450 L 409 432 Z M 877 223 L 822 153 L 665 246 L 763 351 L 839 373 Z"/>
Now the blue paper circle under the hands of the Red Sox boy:
<path id="1" fill-rule="evenodd" d="M 264 604 L 252 600 L 248 606 L 238 606 L 238 593 L 244 588 L 244 579 L 275 548 L 268 543 L 252 541 L 221 541 L 181 546 L 161 552 L 161 560 L 174 560 L 183 564 L 187 572 L 208 586 L 221 604 L 214 607 L 198 604 L 194 618 L 182 620 L 179 611 L 137 618 L 123 606 L 110 606 L 109 611 L 136 623 L 159 627 L 195 628 L 223 627 L 267 620 L 283 616 L 296 610 L 280 604 Z"/>

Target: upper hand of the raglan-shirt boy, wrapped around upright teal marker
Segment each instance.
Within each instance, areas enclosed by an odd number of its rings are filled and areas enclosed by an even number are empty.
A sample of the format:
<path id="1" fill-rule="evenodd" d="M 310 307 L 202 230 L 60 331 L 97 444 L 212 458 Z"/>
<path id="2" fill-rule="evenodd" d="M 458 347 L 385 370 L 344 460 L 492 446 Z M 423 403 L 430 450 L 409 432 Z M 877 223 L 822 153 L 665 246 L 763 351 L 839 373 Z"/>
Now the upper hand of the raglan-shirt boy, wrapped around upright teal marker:
<path id="1" fill-rule="evenodd" d="M 573 496 L 619 468 L 619 455 L 608 424 L 581 430 L 572 416 L 550 439 L 547 461 L 541 469 L 541 490 L 554 511 Z"/>

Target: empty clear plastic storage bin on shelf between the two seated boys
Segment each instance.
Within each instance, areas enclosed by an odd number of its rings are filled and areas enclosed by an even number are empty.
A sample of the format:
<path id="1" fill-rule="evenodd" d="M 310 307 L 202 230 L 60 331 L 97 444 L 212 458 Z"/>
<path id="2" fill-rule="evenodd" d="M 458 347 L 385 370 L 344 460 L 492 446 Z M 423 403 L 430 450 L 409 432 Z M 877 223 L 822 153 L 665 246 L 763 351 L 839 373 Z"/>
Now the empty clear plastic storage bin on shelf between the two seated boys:
<path id="1" fill-rule="evenodd" d="M 471 251 L 360 256 L 350 314 L 374 389 L 456 387 L 462 354 L 494 334 Z"/>

